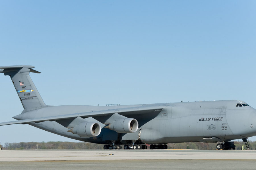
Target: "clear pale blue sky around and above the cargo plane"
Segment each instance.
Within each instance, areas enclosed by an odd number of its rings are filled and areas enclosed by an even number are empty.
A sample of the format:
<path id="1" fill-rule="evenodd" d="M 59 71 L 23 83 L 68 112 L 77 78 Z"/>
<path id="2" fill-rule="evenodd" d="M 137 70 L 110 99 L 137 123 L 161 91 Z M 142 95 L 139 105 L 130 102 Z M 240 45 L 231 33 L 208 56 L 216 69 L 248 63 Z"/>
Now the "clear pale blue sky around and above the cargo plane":
<path id="1" fill-rule="evenodd" d="M 0 65 L 47 105 L 239 99 L 256 108 L 256 1 L 0 1 Z M 23 108 L 0 75 L 1 122 Z M 241 115 L 241 119 L 244 118 Z M 256 140 L 256 137 L 249 138 Z M 0 142 L 75 141 L 29 125 Z"/>

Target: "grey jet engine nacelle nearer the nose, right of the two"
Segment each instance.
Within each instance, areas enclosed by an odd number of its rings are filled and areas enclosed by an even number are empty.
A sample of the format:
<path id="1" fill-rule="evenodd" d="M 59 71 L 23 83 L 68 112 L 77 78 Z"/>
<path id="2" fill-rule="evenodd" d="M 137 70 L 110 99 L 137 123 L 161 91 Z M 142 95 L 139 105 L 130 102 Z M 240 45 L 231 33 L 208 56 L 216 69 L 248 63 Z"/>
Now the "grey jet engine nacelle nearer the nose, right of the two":
<path id="1" fill-rule="evenodd" d="M 117 133 L 133 133 L 136 132 L 139 127 L 138 121 L 133 118 L 118 119 L 109 125 L 110 130 L 114 130 Z"/>

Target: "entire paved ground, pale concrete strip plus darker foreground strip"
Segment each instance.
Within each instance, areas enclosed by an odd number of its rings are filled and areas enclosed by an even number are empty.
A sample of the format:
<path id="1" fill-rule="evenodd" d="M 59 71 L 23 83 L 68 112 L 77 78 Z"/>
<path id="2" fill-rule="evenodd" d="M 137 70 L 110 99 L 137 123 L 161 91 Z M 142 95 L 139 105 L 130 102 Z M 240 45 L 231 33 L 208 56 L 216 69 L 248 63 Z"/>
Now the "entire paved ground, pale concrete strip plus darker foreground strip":
<path id="1" fill-rule="evenodd" d="M 256 169 L 256 150 L 0 150 L 0 169 Z"/>

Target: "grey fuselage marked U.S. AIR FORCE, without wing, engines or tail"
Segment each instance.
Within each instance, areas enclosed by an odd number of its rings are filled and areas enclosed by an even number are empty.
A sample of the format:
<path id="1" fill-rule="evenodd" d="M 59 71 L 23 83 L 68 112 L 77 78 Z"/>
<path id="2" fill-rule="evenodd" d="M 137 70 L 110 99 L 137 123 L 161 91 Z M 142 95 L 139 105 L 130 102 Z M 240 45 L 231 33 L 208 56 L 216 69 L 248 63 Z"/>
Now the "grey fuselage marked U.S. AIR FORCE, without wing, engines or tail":
<path id="1" fill-rule="evenodd" d="M 239 107 L 239 103 L 243 104 Z M 238 107 L 237 107 L 238 104 Z M 145 144 L 179 143 L 179 142 L 209 142 L 230 141 L 256 135 L 256 110 L 238 100 L 199 101 L 180 103 L 161 103 L 147 105 L 121 106 L 50 106 L 34 111 L 24 112 L 15 116 L 18 120 L 38 118 L 43 116 L 58 116 L 89 111 L 120 109 L 129 107 L 159 106 L 158 112 L 139 112 L 126 114 L 128 118 L 135 118 L 139 128 L 134 133 L 117 133 L 104 128 L 105 124 L 98 121 L 98 117 L 86 118 L 88 121 L 98 122 L 101 127 L 100 135 L 96 137 L 80 137 L 67 132 L 69 129 L 55 121 L 29 123 L 37 128 L 91 143 L 110 144 L 115 141 L 126 144 L 130 141 Z"/>

